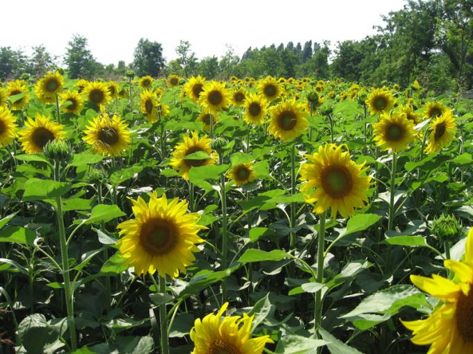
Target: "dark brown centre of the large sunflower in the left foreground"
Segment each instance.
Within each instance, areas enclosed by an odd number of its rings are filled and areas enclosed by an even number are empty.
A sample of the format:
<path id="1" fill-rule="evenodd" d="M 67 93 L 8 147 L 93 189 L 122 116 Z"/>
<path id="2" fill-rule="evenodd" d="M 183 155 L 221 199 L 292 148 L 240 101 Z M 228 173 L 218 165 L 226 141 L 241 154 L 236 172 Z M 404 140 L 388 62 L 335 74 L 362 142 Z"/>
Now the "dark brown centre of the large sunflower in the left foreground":
<path id="1" fill-rule="evenodd" d="M 165 219 L 150 219 L 141 225 L 140 242 L 147 253 L 163 255 L 169 253 L 177 242 L 174 224 Z"/>

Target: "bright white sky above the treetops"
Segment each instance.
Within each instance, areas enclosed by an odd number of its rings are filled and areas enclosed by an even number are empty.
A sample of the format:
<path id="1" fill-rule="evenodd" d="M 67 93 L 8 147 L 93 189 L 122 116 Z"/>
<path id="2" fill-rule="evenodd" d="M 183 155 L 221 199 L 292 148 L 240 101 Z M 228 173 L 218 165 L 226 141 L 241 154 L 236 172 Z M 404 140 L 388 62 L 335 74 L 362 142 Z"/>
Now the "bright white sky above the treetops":
<path id="1" fill-rule="evenodd" d="M 239 56 L 248 47 L 312 40 L 360 40 L 375 33 L 380 15 L 404 0 L 22 0 L 1 1 L 0 47 L 39 44 L 62 56 L 75 33 L 88 38 L 103 64 L 129 63 L 141 37 L 160 42 L 166 60 L 188 40 L 198 58 Z"/>

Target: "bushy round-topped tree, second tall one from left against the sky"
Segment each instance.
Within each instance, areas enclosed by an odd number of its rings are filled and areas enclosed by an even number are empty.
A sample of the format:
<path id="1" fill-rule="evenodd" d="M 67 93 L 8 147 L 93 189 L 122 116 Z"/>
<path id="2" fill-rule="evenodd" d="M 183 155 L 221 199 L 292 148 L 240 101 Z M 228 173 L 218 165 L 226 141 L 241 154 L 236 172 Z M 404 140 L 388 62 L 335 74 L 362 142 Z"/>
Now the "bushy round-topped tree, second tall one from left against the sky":
<path id="1" fill-rule="evenodd" d="M 165 63 L 161 43 L 151 42 L 145 38 L 138 41 L 134 52 L 133 67 L 139 76 L 157 77 Z"/>

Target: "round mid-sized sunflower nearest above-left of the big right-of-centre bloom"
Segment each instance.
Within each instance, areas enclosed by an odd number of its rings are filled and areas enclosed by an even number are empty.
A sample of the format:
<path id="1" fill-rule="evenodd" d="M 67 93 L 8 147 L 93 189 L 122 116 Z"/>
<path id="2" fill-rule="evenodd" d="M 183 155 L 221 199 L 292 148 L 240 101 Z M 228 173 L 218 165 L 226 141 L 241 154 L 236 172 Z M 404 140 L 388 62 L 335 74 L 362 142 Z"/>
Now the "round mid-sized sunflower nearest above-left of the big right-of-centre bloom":
<path id="1" fill-rule="evenodd" d="M 305 117 L 307 112 L 302 103 L 297 103 L 295 99 L 283 101 L 271 107 L 271 124 L 268 126 L 268 132 L 284 141 L 298 137 L 309 126 Z"/>

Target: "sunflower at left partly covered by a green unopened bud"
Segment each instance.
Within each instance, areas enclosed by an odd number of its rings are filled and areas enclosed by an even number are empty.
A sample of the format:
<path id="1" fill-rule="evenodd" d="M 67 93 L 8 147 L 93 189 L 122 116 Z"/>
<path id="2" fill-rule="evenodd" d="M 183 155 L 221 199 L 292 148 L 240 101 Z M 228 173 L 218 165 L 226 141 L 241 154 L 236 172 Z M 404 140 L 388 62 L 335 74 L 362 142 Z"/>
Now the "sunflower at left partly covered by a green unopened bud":
<path id="1" fill-rule="evenodd" d="M 35 120 L 28 117 L 24 129 L 19 132 L 19 142 L 26 153 L 42 153 L 46 143 L 51 140 L 63 140 L 64 126 L 49 117 L 36 113 Z"/>

